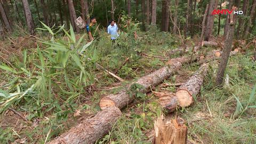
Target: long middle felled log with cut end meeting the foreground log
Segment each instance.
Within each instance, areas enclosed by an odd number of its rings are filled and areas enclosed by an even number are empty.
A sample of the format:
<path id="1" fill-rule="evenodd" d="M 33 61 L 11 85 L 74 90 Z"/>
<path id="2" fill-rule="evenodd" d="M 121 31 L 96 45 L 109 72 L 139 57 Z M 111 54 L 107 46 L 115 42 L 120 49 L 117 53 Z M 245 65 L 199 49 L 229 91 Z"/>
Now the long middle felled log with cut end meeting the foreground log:
<path id="1" fill-rule="evenodd" d="M 167 62 L 167 65 L 169 66 L 165 66 L 161 69 L 154 71 L 154 73 L 151 73 L 147 76 L 143 76 L 140 79 L 138 79 L 137 82 L 134 82 L 134 83 L 140 84 L 143 87 L 145 87 L 145 89 L 141 90 L 141 92 L 143 93 L 150 92 L 150 87 L 153 87 L 158 85 L 159 83 L 162 83 L 164 79 L 170 77 L 178 69 L 180 69 L 182 63 L 189 62 L 190 60 L 191 58 L 188 58 L 188 57 L 181 57 L 181 58 L 175 58 L 175 59 L 169 60 Z M 127 90 L 130 90 L 130 86 L 132 84 L 127 86 Z M 109 106 L 116 106 L 119 109 L 122 109 L 126 107 L 134 99 L 133 95 L 130 95 L 127 93 L 127 90 L 123 89 L 119 91 L 117 94 L 109 94 L 103 97 L 99 103 L 100 108 L 105 109 Z"/>

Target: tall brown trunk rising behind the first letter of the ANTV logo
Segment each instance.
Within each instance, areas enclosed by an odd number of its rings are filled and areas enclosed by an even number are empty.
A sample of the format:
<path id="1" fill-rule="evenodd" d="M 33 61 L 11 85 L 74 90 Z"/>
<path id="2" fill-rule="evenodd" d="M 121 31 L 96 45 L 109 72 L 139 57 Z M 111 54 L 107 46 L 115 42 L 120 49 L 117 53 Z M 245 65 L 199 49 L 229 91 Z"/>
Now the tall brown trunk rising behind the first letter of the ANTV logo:
<path id="1" fill-rule="evenodd" d="M 209 5 L 209 11 L 207 15 L 207 24 L 205 30 L 204 41 L 209 41 L 210 36 L 212 35 L 213 24 L 214 24 L 214 15 L 212 15 L 212 11 L 216 9 L 218 0 L 211 0 Z"/>

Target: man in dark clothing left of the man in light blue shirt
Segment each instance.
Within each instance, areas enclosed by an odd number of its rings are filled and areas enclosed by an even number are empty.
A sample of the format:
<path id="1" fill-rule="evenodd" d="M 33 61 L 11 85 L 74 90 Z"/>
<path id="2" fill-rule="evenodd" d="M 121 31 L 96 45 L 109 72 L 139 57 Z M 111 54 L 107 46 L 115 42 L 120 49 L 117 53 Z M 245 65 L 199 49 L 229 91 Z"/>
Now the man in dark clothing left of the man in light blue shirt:
<path id="1" fill-rule="evenodd" d="M 88 34 L 89 34 L 90 41 L 92 41 L 93 39 L 97 39 L 99 37 L 99 26 L 97 25 L 97 21 L 95 17 L 91 18 Z"/>

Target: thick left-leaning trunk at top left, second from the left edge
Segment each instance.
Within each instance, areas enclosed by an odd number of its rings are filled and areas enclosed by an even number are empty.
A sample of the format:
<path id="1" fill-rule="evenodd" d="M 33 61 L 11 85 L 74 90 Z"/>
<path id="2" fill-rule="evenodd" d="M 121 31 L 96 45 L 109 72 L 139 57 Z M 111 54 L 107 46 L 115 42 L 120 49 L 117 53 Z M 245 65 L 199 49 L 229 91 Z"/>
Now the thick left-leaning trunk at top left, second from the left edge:
<path id="1" fill-rule="evenodd" d="M 31 35 L 34 35 L 35 25 L 34 25 L 34 20 L 32 18 L 31 11 L 30 11 L 28 0 L 22 0 L 22 4 L 25 12 L 25 17 L 26 17 L 29 32 Z"/>

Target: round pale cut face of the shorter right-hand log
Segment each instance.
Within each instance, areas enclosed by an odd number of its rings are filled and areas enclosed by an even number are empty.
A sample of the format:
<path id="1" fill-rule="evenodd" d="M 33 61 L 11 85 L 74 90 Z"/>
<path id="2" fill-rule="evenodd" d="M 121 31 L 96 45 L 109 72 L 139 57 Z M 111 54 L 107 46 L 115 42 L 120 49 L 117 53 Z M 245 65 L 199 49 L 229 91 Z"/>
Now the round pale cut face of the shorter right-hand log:
<path id="1" fill-rule="evenodd" d="M 181 107 L 188 107 L 193 103 L 193 97 L 187 90 L 178 90 L 176 96 Z"/>

